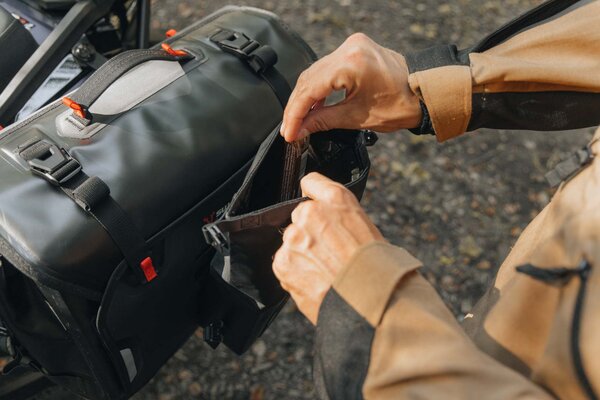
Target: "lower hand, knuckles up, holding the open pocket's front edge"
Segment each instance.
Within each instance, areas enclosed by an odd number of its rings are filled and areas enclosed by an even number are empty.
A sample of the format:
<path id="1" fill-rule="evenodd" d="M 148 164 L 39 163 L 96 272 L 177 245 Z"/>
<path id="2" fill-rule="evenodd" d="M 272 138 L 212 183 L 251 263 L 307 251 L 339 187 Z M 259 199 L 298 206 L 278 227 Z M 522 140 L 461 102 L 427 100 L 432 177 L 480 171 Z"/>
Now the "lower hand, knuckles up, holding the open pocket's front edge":
<path id="1" fill-rule="evenodd" d="M 273 258 L 273 272 L 316 325 L 325 294 L 356 250 L 385 239 L 343 185 L 316 172 L 300 184 L 311 200 L 292 213 L 283 245 Z"/>

